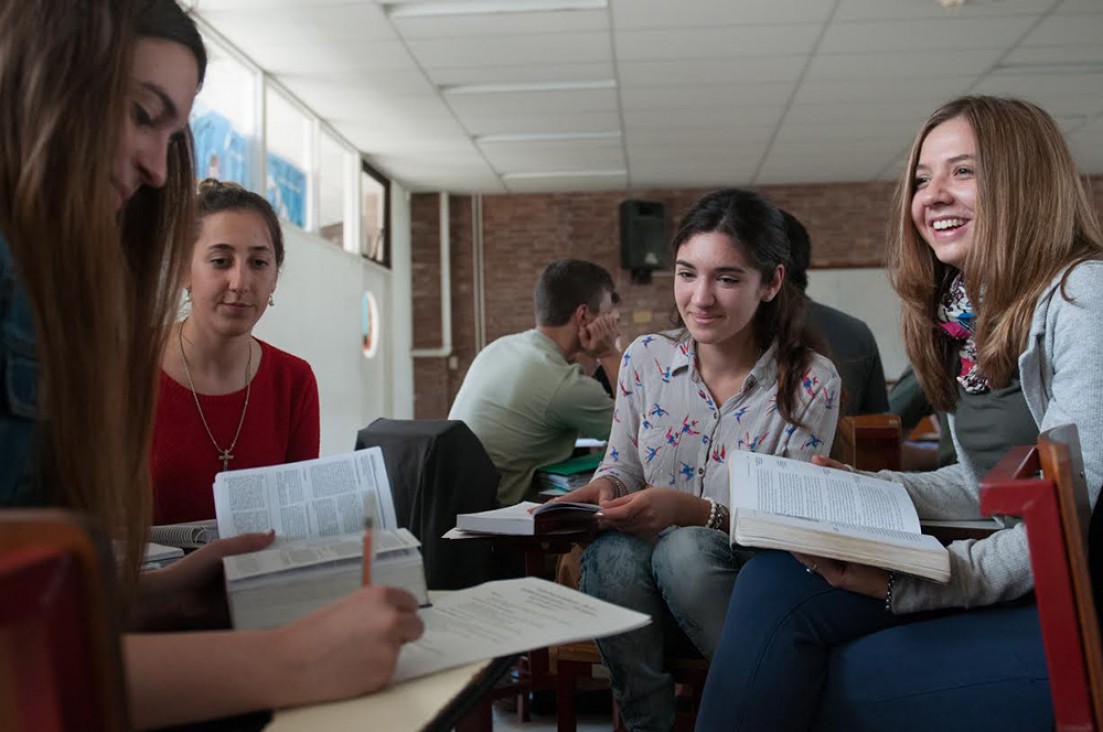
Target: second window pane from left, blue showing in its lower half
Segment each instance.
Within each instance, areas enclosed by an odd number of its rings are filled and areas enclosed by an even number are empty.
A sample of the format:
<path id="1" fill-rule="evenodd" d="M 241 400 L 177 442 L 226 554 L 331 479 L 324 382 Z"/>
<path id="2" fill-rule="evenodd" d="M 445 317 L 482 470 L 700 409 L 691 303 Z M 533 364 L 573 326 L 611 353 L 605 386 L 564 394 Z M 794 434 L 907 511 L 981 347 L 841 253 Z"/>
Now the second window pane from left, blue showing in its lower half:
<path id="1" fill-rule="evenodd" d="M 307 228 L 308 177 L 313 123 L 290 99 L 265 89 L 265 140 L 268 144 L 265 192 L 282 218 Z"/>

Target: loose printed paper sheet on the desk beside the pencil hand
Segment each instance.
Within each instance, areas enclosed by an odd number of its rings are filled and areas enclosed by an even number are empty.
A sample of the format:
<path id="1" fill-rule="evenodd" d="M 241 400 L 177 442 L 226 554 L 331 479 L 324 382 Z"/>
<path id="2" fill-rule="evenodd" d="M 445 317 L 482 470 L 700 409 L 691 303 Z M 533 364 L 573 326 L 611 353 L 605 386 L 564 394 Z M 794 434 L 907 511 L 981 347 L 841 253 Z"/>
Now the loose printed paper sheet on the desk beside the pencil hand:
<path id="1" fill-rule="evenodd" d="M 418 614 L 425 635 L 403 646 L 396 682 L 484 658 L 624 633 L 651 622 L 643 613 L 534 577 L 451 592 Z"/>

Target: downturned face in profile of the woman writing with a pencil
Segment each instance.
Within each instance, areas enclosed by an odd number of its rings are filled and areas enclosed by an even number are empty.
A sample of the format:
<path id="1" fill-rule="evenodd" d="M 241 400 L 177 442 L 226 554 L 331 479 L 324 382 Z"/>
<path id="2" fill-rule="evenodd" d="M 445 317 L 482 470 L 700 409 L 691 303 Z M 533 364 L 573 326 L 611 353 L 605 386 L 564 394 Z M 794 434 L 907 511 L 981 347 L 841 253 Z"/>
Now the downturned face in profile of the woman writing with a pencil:
<path id="1" fill-rule="evenodd" d="M 186 46 L 160 39 L 138 41 L 111 173 L 117 207 L 143 185 L 164 185 L 169 143 L 188 126 L 197 90 L 199 66 Z"/>

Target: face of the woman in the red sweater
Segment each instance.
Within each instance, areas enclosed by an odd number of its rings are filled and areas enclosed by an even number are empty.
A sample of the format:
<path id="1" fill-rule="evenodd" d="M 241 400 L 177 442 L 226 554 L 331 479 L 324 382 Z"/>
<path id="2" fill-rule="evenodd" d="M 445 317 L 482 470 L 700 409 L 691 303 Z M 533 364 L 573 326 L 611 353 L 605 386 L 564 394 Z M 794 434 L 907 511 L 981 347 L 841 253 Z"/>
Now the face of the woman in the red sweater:
<path id="1" fill-rule="evenodd" d="M 249 333 L 268 308 L 277 276 L 276 250 L 259 214 L 210 214 L 203 218 L 185 282 L 192 294 L 191 319 L 226 337 Z"/>

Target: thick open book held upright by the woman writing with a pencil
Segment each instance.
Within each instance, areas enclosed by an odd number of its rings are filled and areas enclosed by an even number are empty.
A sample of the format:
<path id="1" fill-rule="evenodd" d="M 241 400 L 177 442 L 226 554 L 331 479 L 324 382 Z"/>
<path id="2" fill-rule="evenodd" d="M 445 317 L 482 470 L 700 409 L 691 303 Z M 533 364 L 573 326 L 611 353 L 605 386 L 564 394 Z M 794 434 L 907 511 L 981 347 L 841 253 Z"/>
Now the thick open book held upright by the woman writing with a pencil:
<path id="1" fill-rule="evenodd" d="M 375 516 L 372 580 L 428 603 L 420 542 L 397 527 L 383 452 L 218 473 L 218 534 L 276 530 L 268 549 L 225 557 L 236 628 L 272 627 L 355 592 L 364 558 L 364 507 Z"/>

